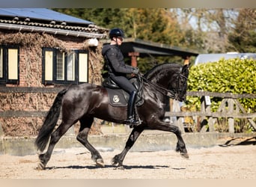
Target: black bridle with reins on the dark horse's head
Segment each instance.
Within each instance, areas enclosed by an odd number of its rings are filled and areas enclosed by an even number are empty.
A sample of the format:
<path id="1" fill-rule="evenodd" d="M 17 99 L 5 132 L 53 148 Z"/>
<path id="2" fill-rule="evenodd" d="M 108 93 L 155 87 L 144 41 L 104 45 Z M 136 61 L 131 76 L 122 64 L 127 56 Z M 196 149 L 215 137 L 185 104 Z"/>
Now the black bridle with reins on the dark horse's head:
<path id="1" fill-rule="evenodd" d="M 181 91 L 183 91 L 183 89 L 185 88 L 185 84 L 186 82 L 183 83 L 182 87 L 180 87 L 180 79 L 186 79 L 186 76 L 183 76 L 181 73 L 176 73 L 176 88 L 173 88 L 171 90 L 163 88 L 162 86 L 159 86 L 153 82 L 150 82 L 149 80 L 145 79 L 143 76 L 141 76 L 141 79 L 144 80 L 144 82 L 149 83 L 150 85 L 153 85 L 157 91 L 159 91 L 160 93 L 162 93 L 165 96 L 170 97 L 171 99 L 179 99 L 179 95 L 181 93 Z"/>

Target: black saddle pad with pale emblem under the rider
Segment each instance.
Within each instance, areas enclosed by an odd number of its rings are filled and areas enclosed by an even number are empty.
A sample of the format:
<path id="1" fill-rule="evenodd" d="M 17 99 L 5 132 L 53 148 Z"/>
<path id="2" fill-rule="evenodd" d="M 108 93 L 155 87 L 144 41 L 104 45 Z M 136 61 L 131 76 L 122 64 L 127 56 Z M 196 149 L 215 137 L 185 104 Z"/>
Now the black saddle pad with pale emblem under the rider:
<path id="1" fill-rule="evenodd" d="M 127 106 L 127 99 L 124 96 L 124 91 L 121 89 L 106 88 L 109 94 L 109 103 L 112 106 Z"/>

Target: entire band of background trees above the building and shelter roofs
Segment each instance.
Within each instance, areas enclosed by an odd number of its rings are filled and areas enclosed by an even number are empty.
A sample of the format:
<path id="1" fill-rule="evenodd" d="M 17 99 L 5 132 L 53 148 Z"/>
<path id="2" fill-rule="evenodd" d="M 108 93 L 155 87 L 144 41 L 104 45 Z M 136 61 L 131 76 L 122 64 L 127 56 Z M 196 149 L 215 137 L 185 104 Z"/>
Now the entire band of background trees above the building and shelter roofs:
<path id="1" fill-rule="evenodd" d="M 123 28 L 126 37 L 201 53 L 255 52 L 255 9 L 64 8 L 54 9 L 105 28 Z M 138 64 L 153 61 L 139 58 Z M 181 58 L 156 58 L 182 63 Z M 143 66 L 148 67 L 148 66 Z"/>

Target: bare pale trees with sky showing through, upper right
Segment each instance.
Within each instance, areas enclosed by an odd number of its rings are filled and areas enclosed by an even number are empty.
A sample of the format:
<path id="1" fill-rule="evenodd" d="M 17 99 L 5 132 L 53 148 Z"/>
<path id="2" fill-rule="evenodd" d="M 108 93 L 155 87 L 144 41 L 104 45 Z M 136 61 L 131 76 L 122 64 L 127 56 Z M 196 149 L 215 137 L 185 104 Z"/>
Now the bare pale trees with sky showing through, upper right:
<path id="1" fill-rule="evenodd" d="M 204 53 L 226 52 L 229 45 L 228 33 L 234 19 L 236 9 L 171 9 L 177 13 L 181 24 L 186 24 L 186 35 L 190 47 L 196 47 Z M 185 25 L 184 24 L 184 25 Z M 189 47 L 189 48 L 190 48 Z"/>

